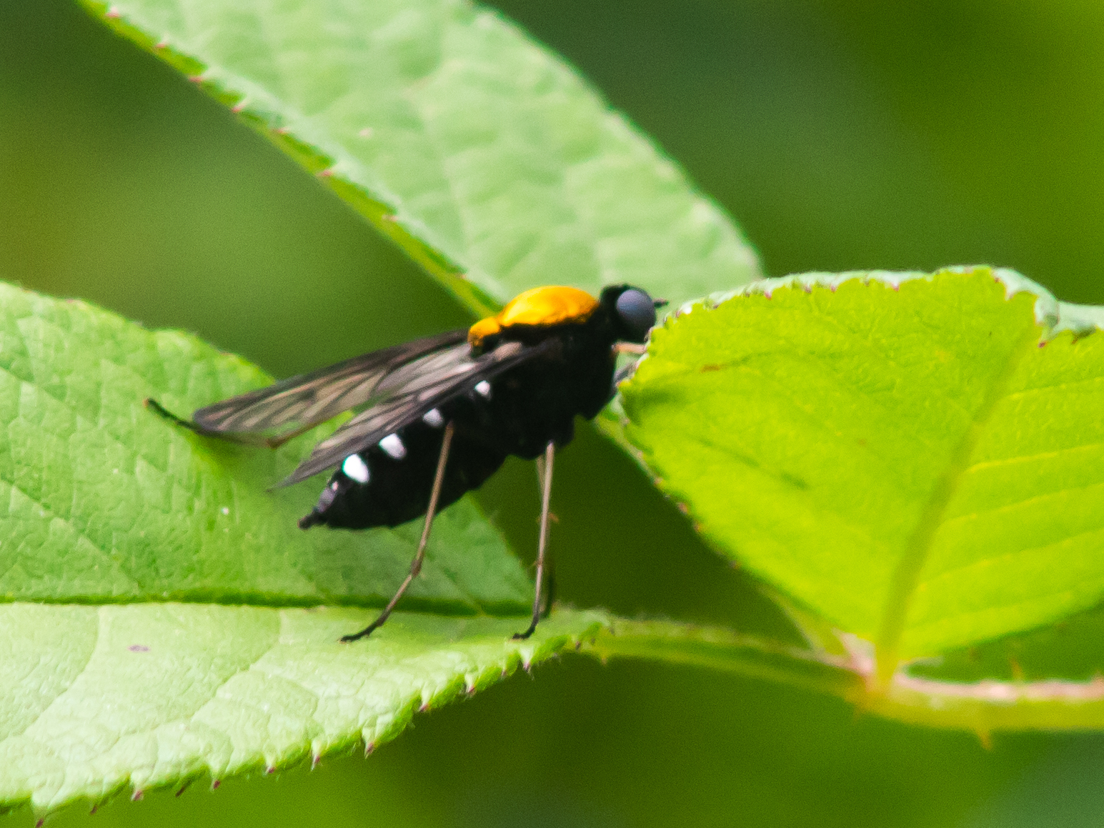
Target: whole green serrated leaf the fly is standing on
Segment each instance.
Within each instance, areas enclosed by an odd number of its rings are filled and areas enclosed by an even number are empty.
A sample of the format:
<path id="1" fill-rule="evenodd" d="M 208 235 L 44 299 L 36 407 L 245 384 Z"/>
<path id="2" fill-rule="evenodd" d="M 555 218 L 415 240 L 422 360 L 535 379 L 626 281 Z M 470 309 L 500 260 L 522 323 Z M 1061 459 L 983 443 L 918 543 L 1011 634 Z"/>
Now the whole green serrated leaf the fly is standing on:
<path id="1" fill-rule="evenodd" d="M 526 613 L 532 586 L 461 501 L 403 605 L 435 615 L 339 644 L 378 611 L 317 605 L 381 605 L 420 527 L 302 532 L 321 478 L 267 487 L 318 433 L 270 452 L 142 405 L 187 414 L 265 382 L 184 333 L 0 284 L 0 803 L 45 811 L 378 744 L 603 622 L 560 612 L 510 641 L 526 619 L 486 613 Z"/>

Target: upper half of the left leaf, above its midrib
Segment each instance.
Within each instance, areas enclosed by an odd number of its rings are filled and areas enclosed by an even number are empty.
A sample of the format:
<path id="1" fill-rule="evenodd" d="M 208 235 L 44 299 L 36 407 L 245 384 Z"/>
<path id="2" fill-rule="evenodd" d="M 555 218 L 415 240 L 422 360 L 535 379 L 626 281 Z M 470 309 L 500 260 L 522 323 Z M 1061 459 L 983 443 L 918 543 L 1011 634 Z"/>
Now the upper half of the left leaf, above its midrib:
<path id="1" fill-rule="evenodd" d="M 142 406 L 188 415 L 268 381 L 194 337 L 0 284 L 0 594 L 382 606 L 420 527 L 304 532 L 325 479 L 268 491 L 325 432 L 269 452 Z M 522 613 L 532 599 L 470 500 L 434 524 L 427 558 L 408 608 Z"/>

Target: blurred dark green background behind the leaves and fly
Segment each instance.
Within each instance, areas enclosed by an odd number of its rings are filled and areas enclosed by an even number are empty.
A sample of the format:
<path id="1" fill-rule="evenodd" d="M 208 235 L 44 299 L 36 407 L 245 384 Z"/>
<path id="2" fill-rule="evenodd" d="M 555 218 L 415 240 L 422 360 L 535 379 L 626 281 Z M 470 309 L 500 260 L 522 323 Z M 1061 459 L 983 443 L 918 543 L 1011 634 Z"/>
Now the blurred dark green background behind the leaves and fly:
<path id="1" fill-rule="evenodd" d="M 499 8 L 678 159 L 772 275 L 985 262 L 1104 302 L 1104 4 Z M 277 375 L 467 320 L 265 140 L 59 0 L 0 0 L 0 278 L 197 331 Z M 531 555 L 531 468 L 481 499 Z M 558 465 L 554 509 L 564 599 L 781 629 L 591 431 Z M 420 716 L 368 761 L 51 825 L 1098 826 L 1102 781 L 1097 735 L 986 750 L 762 682 L 565 657 Z"/>

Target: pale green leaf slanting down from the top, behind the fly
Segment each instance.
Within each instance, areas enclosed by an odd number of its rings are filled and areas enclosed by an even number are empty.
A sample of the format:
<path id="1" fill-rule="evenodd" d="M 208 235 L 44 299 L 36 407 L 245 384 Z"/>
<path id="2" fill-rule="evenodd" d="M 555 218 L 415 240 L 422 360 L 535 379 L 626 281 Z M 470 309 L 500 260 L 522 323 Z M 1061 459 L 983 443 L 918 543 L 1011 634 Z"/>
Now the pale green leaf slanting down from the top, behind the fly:
<path id="1" fill-rule="evenodd" d="M 87 4 L 320 174 L 477 311 L 542 284 L 629 282 L 679 301 L 758 273 L 716 205 L 492 11 Z"/>

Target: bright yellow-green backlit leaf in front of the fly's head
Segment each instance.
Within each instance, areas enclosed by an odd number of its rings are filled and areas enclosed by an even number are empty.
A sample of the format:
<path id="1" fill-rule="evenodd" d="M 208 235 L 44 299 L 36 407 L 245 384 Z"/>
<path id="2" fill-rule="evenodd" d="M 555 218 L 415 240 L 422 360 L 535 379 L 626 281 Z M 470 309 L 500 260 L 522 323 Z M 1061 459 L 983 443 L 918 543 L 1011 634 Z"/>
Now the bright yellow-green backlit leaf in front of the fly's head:
<path id="1" fill-rule="evenodd" d="M 1100 318 L 988 268 L 771 279 L 654 333 L 627 435 L 884 679 L 1104 596 Z"/>

